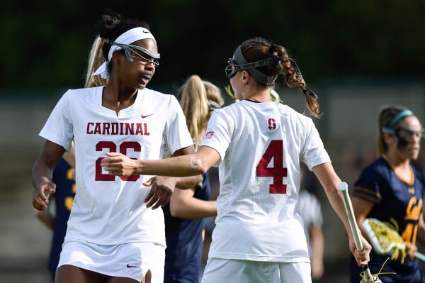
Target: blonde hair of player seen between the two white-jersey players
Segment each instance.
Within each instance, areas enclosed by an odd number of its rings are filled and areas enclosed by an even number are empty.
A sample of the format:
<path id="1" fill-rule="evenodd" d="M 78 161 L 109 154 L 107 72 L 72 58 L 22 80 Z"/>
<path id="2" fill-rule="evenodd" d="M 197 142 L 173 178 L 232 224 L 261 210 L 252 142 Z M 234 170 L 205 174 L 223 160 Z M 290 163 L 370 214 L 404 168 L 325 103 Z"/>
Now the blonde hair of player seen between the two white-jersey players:
<path id="1" fill-rule="evenodd" d="M 225 104 L 221 91 L 215 84 L 203 81 L 196 74 L 188 77 L 179 89 L 180 105 L 186 116 L 188 130 L 195 148 L 203 140 L 203 131 L 207 127 L 212 110 Z"/>

